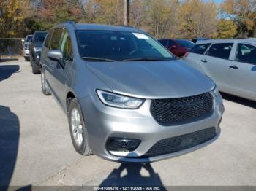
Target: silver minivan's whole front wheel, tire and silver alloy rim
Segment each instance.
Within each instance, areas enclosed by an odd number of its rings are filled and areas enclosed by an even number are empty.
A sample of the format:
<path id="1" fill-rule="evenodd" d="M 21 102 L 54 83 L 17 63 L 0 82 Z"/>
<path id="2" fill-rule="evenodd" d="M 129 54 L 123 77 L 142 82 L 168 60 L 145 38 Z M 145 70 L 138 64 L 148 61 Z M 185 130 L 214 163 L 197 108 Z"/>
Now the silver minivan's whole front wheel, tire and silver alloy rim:
<path id="1" fill-rule="evenodd" d="M 78 100 L 73 98 L 69 104 L 68 110 L 69 131 L 73 147 L 80 155 L 91 155 L 91 149 L 88 144 L 88 133 L 86 122 L 78 104 Z"/>

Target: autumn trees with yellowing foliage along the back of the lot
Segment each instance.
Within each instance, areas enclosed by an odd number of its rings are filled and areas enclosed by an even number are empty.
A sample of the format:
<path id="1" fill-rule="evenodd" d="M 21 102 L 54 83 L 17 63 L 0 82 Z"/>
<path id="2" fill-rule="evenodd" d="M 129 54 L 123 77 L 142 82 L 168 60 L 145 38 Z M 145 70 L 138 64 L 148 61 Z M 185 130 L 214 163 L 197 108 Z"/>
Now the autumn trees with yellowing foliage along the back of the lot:
<path id="1" fill-rule="evenodd" d="M 157 38 L 256 37 L 255 9 L 256 0 L 225 0 L 220 9 L 213 0 L 130 0 L 129 23 Z M 1 36 L 25 36 L 66 20 L 124 25 L 124 0 L 0 0 Z"/>

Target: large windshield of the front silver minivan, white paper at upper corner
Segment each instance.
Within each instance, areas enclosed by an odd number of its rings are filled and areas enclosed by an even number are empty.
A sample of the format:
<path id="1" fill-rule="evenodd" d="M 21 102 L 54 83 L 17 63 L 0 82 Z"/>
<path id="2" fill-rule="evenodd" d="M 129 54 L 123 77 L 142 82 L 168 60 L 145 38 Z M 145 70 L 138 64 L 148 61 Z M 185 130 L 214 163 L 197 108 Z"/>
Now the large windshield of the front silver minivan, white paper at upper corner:
<path id="1" fill-rule="evenodd" d="M 146 34 L 123 31 L 76 31 L 82 58 L 91 61 L 173 60 L 159 42 Z"/>

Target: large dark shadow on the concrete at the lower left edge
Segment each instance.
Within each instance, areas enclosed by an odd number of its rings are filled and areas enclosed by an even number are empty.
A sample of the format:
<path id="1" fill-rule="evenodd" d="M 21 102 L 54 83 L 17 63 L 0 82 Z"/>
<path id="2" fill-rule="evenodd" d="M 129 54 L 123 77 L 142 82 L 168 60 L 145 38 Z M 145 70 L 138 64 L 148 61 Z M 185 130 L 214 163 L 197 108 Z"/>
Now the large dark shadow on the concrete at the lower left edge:
<path id="1" fill-rule="evenodd" d="M 12 179 L 19 137 L 20 122 L 17 115 L 9 107 L 0 106 L 0 186 L 8 186 Z"/>

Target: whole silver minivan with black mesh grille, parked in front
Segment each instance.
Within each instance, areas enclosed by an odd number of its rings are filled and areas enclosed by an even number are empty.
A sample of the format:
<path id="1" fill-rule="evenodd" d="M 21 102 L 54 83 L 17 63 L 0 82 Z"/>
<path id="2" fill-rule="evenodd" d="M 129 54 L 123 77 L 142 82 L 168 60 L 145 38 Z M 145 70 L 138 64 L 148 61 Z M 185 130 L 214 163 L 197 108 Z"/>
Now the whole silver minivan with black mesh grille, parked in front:
<path id="1" fill-rule="evenodd" d="M 224 106 L 214 82 L 135 28 L 62 23 L 42 47 L 42 93 L 67 113 L 81 155 L 151 162 L 211 143 Z"/>

